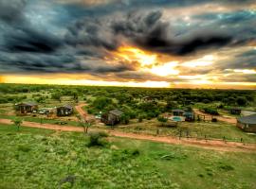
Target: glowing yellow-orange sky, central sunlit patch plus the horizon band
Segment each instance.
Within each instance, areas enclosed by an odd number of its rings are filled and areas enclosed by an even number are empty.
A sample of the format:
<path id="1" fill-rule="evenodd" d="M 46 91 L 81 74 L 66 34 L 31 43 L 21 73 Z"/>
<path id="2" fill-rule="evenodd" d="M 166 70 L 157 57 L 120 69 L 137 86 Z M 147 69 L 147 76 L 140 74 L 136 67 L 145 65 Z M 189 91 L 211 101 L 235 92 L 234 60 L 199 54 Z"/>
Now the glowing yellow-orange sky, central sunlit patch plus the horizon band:
<path id="1" fill-rule="evenodd" d="M 194 60 L 182 61 L 176 57 L 150 53 L 133 46 L 121 46 L 114 51 L 106 61 L 111 64 L 123 61 L 136 72 L 155 76 L 153 79 L 136 80 L 119 78 L 113 74 L 106 77 L 92 76 L 90 74 L 41 74 L 41 75 L 2 75 L 1 83 L 27 83 L 27 84 L 61 84 L 61 85 L 92 85 L 92 86 L 125 86 L 125 87 L 151 87 L 151 88 L 203 88 L 203 89 L 256 89 L 255 82 L 223 81 L 218 75 L 184 75 L 184 70 L 205 68 L 220 59 L 215 55 L 205 55 Z M 233 74 L 254 75 L 253 69 L 229 69 Z M 231 74 L 226 77 L 232 77 Z M 223 77 L 223 75 L 221 75 Z M 168 80 L 172 78 L 173 80 Z"/>

